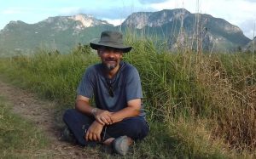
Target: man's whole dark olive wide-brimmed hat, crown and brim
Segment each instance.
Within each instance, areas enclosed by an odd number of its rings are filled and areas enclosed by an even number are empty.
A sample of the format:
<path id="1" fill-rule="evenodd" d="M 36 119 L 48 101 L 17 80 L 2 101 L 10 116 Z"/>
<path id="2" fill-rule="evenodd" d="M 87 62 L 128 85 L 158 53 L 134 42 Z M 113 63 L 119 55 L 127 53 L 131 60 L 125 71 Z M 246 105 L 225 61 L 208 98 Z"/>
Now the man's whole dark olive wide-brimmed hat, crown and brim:
<path id="1" fill-rule="evenodd" d="M 103 31 L 100 40 L 90 42 L 90 47 L 98 49 L 100 47 L 119 48 L 123 53 L 131 51 L 130 46 L 125 46 L 123 43 L 123 35 L 118 31 Z"/>

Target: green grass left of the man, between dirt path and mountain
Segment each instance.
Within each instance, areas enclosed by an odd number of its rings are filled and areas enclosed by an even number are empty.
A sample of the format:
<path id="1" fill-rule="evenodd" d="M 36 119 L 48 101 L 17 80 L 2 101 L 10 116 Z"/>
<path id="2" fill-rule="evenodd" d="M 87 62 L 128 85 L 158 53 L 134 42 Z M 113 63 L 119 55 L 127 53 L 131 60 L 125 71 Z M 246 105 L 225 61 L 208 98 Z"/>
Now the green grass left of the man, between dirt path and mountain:
<path id="1" fill-rule="evenodd" d="M 84 69 L 95 63 L 97 58 L 93 54 L 81 58 L 81 55 L 49 53 L 49 50 L 40 49 L 33 56 L 4 59 L 4 63 L 1 62 L 2 72 L 8 73 L 14 84 L 21 88 L 29 88 L 61 104 L 73 105 Z"/>

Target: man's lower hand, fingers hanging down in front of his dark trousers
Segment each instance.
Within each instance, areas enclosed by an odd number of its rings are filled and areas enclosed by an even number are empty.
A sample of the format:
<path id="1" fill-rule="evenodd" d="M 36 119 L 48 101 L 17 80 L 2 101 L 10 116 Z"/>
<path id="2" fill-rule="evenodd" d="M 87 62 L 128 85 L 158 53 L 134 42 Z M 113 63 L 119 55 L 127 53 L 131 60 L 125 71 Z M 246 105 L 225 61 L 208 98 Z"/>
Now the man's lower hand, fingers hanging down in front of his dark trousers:
<path id="1" fill-rule="evenodd" d="M 103 127 L 104 125 L 97 121 L 92 122 L 85 134 L 86 141 L 100 141 Z"/>

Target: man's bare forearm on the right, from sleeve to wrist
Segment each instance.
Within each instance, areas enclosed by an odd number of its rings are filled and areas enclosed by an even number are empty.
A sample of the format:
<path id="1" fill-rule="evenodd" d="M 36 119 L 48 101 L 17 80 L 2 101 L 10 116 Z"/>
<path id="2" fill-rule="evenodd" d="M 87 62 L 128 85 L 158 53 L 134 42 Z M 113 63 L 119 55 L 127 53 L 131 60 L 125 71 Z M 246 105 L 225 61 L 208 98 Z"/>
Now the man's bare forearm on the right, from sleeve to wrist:
<path id="1" fill-rule="evenodd" d="M 140 109 L 141 109 L 141 103 L 142 99 L 131 99 L 127 103 L 127 107 L 124 109 L 113 112 L 111 119 L 112 122 L 120 122 L 126 117 L 134 117 L 134 116 L 139 116 L 140 114 Z"/>

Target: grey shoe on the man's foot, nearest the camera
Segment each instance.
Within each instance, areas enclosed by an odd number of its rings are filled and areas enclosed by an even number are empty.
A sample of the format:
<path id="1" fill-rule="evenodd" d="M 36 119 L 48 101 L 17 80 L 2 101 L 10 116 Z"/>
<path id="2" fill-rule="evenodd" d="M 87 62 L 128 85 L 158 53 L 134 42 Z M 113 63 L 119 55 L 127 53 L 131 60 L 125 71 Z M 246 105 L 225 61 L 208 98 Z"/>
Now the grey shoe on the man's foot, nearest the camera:
<path id="1" fill-rule="evenodd" d="M 127 136 L 120 136 L 112 142 L 113 150 L 119 155 L 125 156 L 129 150 L 132 139 Z"/>

